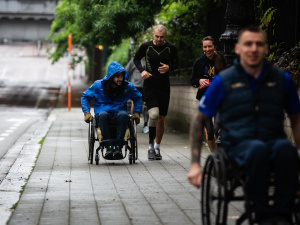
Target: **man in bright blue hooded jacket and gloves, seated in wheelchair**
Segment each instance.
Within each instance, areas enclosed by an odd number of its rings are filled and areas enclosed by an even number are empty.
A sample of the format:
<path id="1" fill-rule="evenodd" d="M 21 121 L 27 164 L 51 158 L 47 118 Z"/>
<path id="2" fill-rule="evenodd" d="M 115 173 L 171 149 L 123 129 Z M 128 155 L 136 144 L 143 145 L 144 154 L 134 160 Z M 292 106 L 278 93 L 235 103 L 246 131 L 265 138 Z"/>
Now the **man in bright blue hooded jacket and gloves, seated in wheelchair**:
<path id="1" fill-rule="evenodd" d="M 127 129 L 129 116 L 126 103 L 129 99 L 134 102 L 132 117 L 136 124 L 140 122 L 142 108 L 142 95 L 128 82 L 128 73 L 118 62 L 110 63 L 107 75 L 97 80 L 81 95 L 81 106 L 84 113 L 84 121 L 89 123 L 92 120 L 90 113 L 90 101 L 94 100 L 94 113 L 98 126 L 101 130 L 103 140 L 123 140 Z M 110 132 L 110 124 L 117 122 L 116 137 L 113 138 Z M 100 140 L 99 140 L 100 141 Z M 113 145 L 112 142 L 105 142 L 106 159 L 122 159 L 122 144 Z"/>

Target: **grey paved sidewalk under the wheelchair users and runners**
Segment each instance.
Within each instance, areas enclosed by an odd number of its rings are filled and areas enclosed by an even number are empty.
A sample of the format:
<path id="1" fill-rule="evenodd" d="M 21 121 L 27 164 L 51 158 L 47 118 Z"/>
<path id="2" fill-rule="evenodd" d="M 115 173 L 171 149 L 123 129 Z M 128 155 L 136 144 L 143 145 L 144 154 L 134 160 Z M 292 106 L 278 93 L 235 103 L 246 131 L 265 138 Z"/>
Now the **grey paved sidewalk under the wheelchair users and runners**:
<path id="1" fill-rule="evenodd" d="M 187 135 L 166 132 L 163 160 L 148 161 L 148 134 L 139 125 L 136 164 L 101 157 L 95 165 L 87 160 L 88 125 L 81 109 L 55 109 L 51 116 L 56 120 L 9 225 L 201 224 L 200 191 L 186 177 Z"/>

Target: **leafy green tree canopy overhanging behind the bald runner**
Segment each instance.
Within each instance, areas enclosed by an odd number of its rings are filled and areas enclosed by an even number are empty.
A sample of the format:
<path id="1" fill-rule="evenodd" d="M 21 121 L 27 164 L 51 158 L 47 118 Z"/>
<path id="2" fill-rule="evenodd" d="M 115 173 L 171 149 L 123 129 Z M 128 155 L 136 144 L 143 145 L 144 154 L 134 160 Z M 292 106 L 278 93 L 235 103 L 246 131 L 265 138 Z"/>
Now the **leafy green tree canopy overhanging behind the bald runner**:
<path id="1" fill-rule="evenodd" d="M 69 33 L 73 45 L 83 46 L 91 60 L 95 45 L 118 46 L 133 37 L 137 48 L 152 39 L 151 27 L 160 23 L 168 27 L 168 41 L 177 46 L 183 67 L 202 53 L 206 14 L 220 4 L 226 0 L 60 0 L 49 35 L 56 44 L 50 59 L 54 63 L 64 55 Z M 72 63 L 75 66 L 80 60 Z"/>

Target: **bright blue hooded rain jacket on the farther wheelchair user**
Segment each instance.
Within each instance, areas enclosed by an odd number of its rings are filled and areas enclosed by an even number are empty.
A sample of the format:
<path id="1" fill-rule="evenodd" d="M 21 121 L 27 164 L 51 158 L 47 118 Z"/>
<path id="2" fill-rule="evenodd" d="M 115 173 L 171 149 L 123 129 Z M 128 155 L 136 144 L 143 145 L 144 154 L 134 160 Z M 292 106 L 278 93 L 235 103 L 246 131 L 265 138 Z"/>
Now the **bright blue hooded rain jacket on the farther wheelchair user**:
<path id="1" fill-rule="evenodd" d="M 104 93 L 104 84 L 107 80 L 119 71 L 125 72 L 124 77 L 124 91 L 112 100 L 108 95 Z M 142 109 L 142 94 L 134 87 L 134 85 L 128 82 L 128 73 L 117 61 L 113 61 L 109 64 L 107 75 L 97 80 L 81 95 L 81 108 L 83 113 L 90 112 L 90 101 L 94 101 L 94 113 L 95 115 L 101 111 L 106 112 L 119 112 L 127 111 L 127 101 L 131 99 L 134 104 L 133 112 L 141 112 Z"/>

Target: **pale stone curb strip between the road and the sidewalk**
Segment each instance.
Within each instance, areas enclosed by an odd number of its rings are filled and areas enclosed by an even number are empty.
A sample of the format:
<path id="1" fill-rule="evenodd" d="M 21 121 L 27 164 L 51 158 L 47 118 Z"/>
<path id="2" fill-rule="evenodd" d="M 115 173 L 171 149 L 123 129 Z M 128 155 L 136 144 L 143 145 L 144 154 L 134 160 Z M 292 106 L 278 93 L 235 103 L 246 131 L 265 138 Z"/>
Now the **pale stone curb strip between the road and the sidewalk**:
<path id="1" fill-rule="evenodd" d="M 0 224 L 9 219 L 24 190 L 41 148 L 39 142 L 49 130 L 51 118 L 34 123 L 23 132 L 0 160 Z"/>

